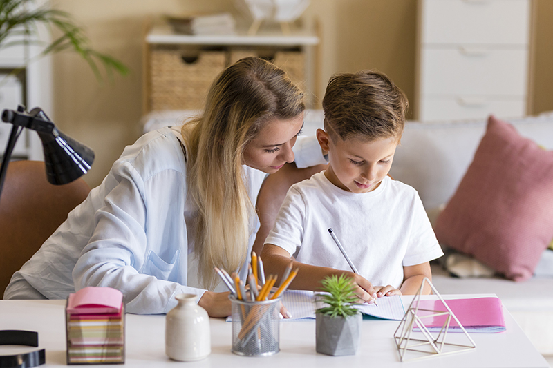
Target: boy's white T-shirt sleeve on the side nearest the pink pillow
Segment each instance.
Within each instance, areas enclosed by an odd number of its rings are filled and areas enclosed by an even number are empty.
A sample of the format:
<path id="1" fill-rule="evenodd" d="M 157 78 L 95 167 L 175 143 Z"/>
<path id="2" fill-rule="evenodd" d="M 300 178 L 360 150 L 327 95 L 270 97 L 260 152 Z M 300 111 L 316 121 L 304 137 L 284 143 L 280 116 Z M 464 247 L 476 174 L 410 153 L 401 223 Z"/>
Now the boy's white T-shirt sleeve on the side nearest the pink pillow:
<path id="1" fill-rule="evenodd" d="M 412 206 L 413 222 L 409 233 L 409 248 L 402 262 L 406 267 L 429 262 L 444 255 L 418 193 L 413 197 Z"/>

